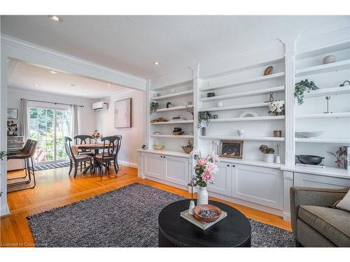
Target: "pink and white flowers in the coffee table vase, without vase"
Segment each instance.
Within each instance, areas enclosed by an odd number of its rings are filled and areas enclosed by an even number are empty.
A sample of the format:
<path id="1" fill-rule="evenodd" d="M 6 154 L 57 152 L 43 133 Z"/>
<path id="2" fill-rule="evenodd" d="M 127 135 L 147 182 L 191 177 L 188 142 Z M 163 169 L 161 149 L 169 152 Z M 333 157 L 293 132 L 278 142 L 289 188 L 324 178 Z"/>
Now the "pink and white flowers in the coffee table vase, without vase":
<path id="1" fill-rule="evenodd" d="M 197 155 L 195 159 L 197 160 L 197 164 L 193 179 L 200 187 L 207 187 L 208 183 L 213 183 L 213 175 L 218 171 L 218 166 L 216 166 L 218 157 L 209 154 L 206 158 L 201 158 L 200 155 Z"/>

